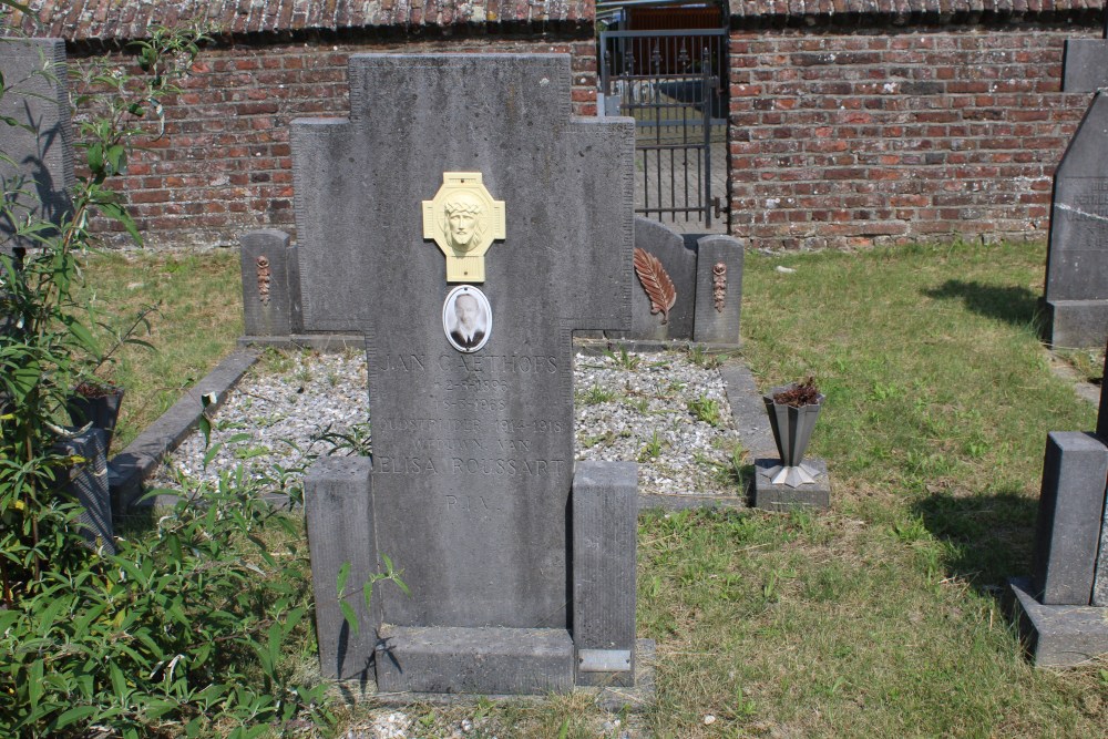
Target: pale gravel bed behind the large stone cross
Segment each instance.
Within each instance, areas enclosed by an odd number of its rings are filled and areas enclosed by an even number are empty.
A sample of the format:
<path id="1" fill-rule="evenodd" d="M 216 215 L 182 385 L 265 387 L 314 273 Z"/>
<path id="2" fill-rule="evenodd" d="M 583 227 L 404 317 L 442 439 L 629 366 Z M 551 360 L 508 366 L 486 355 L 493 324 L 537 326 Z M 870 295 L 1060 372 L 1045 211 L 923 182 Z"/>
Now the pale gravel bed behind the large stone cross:
<path id="1" fill-rule="evenodd" d="M 153 482 L 214 481 L 239 464 L 259 479 L 291 470 L 295 481 L 315 455 L 363 449 L 366 382 L 360 351 L 267 355 L 213 419 L 211 442 L 219 447 L 207 466 L 197 432 Z M 576 459 L 637 461 L 644 493 L 735 494 L 731 456 L 741 450 L 718 370 L 683 352 L 578 353 L 574 387 Z"/>

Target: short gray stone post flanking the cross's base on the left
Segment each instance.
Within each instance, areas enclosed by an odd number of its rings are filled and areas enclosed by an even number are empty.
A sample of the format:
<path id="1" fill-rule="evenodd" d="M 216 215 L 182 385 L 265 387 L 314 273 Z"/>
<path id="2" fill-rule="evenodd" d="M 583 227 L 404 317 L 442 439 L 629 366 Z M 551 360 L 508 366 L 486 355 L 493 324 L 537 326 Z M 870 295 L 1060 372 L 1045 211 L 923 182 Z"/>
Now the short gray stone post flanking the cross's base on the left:
<path id="1" fill-rule="evenodd" d="M 362 592 L 377 562 L 372 469 L 369 458 L 324 456 L 304 479 L 319 667 L 326 678 L 366 679 L 372 674 L 380 608 L 367 610 Z M 338 576 L 345 565 L 349 574 L 341 601 L 353 609 L 358 628 L 350 627 L 340 606 Z"/>

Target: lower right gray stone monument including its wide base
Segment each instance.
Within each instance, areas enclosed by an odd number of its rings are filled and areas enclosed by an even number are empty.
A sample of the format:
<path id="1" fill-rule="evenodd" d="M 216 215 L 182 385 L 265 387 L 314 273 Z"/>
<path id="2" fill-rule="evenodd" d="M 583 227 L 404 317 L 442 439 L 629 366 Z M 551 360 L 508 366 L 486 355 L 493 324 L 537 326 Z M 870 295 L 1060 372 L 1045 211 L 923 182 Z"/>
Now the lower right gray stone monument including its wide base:
<path id="1" fill-rule="evenodd" d="M 1036 665 L 1066 667 L 1108 653 L 1106 406 L 1101 393 L 1095 434 L 1047 435 L 1032 576 L 1009 581 Z"/>

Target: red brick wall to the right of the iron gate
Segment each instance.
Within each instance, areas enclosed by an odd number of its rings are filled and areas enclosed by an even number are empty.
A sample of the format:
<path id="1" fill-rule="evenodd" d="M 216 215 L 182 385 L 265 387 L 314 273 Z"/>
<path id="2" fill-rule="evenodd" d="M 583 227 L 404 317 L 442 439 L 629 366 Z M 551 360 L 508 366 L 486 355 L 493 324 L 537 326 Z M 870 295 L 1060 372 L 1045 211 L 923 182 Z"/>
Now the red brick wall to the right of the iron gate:
<path id="1" fill-rule="evenodd" d="M 732 30 L 731 233 L 752 247 L 1047 237 L 1091 96 L 1060 92 L 1086 25 Z"/>

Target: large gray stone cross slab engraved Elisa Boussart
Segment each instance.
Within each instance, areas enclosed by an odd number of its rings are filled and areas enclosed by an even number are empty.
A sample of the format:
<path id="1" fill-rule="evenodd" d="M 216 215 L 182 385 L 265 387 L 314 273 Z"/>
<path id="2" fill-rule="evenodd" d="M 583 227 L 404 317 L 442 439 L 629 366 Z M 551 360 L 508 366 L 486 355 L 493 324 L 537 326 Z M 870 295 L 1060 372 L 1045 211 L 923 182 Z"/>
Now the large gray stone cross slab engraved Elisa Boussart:
<path id="1" fill-rule="evenodd" d="M 572 119 L 561 55 L 355 55 L 350 100 L 293 123 L 297 234 L 305 327 L 366 335 L 386 622 L 566 628 L 571 335 L 629 325 L 633 123 Z M 506 208 L 474 353 L 420 207 L 466 171 Z"/>

